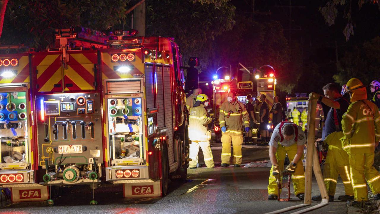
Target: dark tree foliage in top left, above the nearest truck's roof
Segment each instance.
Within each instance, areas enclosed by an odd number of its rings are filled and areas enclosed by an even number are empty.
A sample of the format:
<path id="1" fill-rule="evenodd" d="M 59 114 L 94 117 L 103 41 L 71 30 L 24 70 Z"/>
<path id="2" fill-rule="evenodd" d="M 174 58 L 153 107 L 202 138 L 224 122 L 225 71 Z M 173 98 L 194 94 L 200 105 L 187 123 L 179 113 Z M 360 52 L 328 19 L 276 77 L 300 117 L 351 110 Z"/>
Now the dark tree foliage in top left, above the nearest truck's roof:
<path id="1" fill-rule="evenodd" d="M 7 5 L 2 43 L 45 48 L 53 30 L 85 26 L 96 30 L 123 22 L 130 0 L 12 0 Z"/>

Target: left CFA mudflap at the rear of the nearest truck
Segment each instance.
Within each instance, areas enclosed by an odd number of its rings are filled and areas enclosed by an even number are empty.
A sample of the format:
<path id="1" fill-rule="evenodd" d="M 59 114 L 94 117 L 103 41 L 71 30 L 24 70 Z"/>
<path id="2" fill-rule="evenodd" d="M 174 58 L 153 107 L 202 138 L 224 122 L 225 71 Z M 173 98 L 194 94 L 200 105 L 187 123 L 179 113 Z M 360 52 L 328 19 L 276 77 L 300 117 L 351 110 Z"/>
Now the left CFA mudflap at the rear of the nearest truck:
<path id="1" fill-rule="evenodd" d="M 30 185 L 24 187 L 12 187 L 12 202 L 21 201 L 46 201 L 49 199 L 47 186 Z"/>

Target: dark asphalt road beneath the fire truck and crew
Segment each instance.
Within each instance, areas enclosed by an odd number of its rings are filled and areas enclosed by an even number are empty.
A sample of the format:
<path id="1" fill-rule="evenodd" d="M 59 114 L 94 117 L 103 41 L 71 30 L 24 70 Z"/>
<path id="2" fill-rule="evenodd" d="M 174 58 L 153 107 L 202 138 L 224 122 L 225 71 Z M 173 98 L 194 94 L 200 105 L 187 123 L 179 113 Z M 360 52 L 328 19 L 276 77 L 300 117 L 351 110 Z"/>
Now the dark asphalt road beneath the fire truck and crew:
<path id="1" fill-rule="evenodd" d="M 270 168 L 220 167 L 220 146 L 213 146 L 216 166 L 188 170 L 185 183 L 171 183 L 169 193 L 163 198 L 127 199 L 123 198 L 122 186 L 104 184 L 95 190 L 98 205 L 89 205 L 92 190 L 87 186 L 64 188 L 60 196 L 54 199 L 54 206 L 48 207 L 43 202 L 2 203 L 0 213 L 86 213 L 86 214 L 138 214 L 138 213 L 266 213 L 288 206 L 302 204 L 294 196 L 291 188 L 291 201 L 268 201 L 268 176 Z M 243 161 L 268 160 L 268 147 L 248 146 L 243 149 Z M 200 154 L 199 160 L 203 157 Z M 287 191 L 281 196 L 285 198 Z M 337 185 L 338 195 L 344 193 L 343 184 Z M 313 181 L 313 195 L 319 194 L 317 184 Z M 315 205 L 318 203 L 312 203 Z M 288 212 L 291 213 L 291 212 Z M 327 206 L 309 213 L 347 213 L 345 202 L 334 201 Z"/>

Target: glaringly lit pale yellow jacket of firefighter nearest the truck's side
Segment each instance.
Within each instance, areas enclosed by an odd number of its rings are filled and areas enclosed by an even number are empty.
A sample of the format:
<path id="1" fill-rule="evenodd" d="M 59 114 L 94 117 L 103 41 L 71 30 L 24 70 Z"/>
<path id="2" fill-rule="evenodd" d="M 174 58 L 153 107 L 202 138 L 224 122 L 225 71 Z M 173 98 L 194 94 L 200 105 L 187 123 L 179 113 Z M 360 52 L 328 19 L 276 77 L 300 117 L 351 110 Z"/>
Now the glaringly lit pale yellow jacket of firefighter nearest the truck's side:
<path id="1" fill-rule="evenodd" d="M 212 119 L 207 117 L 203 104 L 191 108 L 188 125 L 190 141 L 209 141 L 211 131 L 207 130 L 207 124 L 211 121 Z"/>

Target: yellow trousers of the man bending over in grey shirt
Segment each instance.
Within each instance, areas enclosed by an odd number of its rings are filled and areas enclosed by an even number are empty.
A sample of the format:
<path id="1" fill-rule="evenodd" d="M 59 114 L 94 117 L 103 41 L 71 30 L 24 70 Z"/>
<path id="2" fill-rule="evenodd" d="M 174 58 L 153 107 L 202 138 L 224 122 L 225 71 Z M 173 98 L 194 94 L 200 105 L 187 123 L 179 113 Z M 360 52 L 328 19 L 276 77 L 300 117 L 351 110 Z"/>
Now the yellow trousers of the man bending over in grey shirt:
<path id="1" fill-rule="evenodd" d="M 276 159 L 277 164 L 279 164 L 280 172 L 284 171 L 284 160 L 286 154 L 288 154 L 289 160 L 292 161 L 294 156 L 297 153 L 297 144 L 293 144 L 289 147 L 284 147 L 280 143 L 278 143 L 277 151 L 276 151 Z M 302 159 L 304 159 L 304 155 L 299 158 L 297 162 L 297 167 L 294 173 L 291 176 L 291 180 L 293 182 L 294 187 L 294 195 L 298 195 L 299 193 L 305 193 L 305 174 L 304 174 L 304 166 L 302 165 Z M 268 185 L 268 195 L 274 194 L 278 196 L 278 188 L 276 183 L 276 178 L 272 175 L 273 166 L 271 171 L 269 172 L 269 185 Z M 282 182 L 282 176 L 281 176 Z M 280 190 L 281 193 L 281 190 Z"/>

